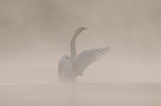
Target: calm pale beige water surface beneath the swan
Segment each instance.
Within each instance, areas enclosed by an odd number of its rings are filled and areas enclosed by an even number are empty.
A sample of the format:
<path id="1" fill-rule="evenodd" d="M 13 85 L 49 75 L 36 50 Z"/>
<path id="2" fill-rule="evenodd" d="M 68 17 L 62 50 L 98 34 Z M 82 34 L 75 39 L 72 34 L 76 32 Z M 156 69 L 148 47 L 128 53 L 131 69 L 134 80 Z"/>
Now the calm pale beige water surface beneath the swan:
<path id="1" fill-rule="evenodd" d="M 161 106 L 161 83 L 0 81 L 0 106 Z"/>

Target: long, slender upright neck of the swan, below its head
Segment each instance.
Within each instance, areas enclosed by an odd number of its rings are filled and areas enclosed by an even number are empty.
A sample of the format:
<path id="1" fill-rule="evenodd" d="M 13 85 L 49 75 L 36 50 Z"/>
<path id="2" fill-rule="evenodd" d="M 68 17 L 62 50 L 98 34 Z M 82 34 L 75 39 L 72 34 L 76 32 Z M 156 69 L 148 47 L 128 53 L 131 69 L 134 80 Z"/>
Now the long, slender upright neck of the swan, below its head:
<path id="1" fill-rule="evenodd" d="M 71 50 L 71 60 L 77 57 L 77 50 L 76 50 L 76 40 L 80 33 L 76 32 L 70 42 L 70 50 Z"/>

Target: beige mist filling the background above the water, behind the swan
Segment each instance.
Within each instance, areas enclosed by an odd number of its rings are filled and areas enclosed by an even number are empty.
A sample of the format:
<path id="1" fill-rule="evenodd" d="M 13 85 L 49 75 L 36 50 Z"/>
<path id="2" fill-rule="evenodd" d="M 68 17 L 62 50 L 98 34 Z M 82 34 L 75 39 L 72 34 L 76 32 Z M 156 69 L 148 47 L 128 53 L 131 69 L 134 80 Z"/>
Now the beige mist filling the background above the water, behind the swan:
<path id="1" fill-rule="evenodd" d="M 0 80 L 59 80 L 79 26 L 78 53 L 111 47 L 79 81 L 161 80 L 160 0 L 1 0 Z"/>

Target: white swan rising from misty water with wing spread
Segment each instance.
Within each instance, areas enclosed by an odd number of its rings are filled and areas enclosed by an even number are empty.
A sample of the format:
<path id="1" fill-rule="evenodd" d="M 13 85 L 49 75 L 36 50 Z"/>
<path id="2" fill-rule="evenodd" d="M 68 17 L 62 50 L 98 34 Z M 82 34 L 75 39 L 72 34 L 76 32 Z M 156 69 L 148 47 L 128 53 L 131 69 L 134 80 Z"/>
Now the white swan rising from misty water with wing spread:
<path id="1" fill-rule="evenodd" d="M 83 51 L 77 56 L 76 40 L 84 30 L 87 30 L 87 28 L 81 26 L 76 31 L 70 42 L 71 55 L 63 55 L 59 62 L 58 73 L 61 81 L 76 81 L 79 75 L 83 75 L 83 71 L 88 65 L 109 52 L 110 47 L 107 46 Z"/>

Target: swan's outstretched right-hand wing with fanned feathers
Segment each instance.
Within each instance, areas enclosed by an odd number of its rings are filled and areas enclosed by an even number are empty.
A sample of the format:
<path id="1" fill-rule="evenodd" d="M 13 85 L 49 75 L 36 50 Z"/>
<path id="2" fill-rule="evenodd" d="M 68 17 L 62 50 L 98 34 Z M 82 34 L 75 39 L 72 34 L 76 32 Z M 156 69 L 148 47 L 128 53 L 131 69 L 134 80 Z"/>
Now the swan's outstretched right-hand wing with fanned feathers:
<path id="1" fill-rule="evenodd" d="M 88 65 L 99 60 L 102 55 L 109 53 L 109 50 L 110 47 L 107 46 L 81 52 L 73 63 L 74 70 L 80 76 L 82 76 L 83 71 L 88 67 Z"/>

